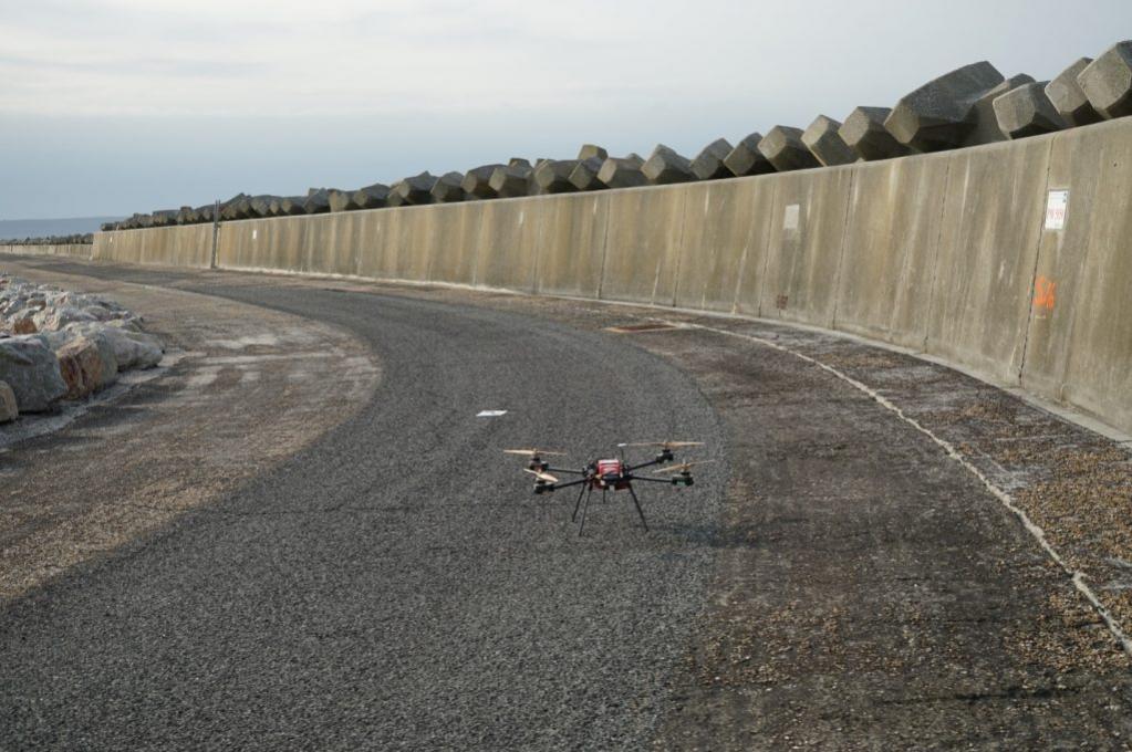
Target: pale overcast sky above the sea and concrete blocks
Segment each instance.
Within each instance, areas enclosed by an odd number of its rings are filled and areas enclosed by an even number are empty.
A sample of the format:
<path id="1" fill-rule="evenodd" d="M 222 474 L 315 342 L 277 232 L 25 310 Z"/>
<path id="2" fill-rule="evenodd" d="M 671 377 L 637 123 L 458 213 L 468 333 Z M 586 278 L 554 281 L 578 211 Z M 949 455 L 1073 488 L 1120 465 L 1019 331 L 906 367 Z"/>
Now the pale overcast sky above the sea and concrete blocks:
<path id="1" fill-rule="evenodd" d="M 0 0 L 0 218 L 691 156 L 1129 37 L 1132 0 Z"/>

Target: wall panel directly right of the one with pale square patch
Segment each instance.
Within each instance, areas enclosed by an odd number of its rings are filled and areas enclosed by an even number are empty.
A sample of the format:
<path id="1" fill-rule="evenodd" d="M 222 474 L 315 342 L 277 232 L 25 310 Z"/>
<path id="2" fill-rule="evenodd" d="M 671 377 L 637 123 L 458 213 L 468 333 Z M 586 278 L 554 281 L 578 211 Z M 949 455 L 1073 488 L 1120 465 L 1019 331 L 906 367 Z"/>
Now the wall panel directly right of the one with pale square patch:
<path id="1" fill-rule="evenodd" d="M 935 284 L 947 156 L 855 172 L 833 326 L 923 349 Z"/>

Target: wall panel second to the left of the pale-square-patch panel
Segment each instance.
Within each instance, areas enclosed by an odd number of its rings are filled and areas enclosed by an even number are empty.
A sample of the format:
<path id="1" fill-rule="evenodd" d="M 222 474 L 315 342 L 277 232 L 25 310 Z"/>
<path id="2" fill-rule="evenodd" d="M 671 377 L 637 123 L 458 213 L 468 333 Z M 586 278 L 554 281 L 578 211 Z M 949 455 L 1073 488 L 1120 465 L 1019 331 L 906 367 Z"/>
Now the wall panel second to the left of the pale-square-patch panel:
<path id="1" fill-rule="evenodd" d="M 609 195 L 603 300 L 672 304 L 686 197 L 678 185 Z"/>

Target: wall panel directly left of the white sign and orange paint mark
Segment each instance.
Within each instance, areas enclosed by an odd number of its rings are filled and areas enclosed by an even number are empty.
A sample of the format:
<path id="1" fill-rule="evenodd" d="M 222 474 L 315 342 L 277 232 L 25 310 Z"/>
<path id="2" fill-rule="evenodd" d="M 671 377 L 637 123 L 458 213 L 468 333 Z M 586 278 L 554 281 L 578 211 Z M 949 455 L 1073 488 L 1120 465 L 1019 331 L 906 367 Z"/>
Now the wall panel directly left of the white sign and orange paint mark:
<path id="1" fill-rule="evenodd" d="M 1048 139 L 950 155 L 927 351 L 1017 382 L 1045 211 Z"/>

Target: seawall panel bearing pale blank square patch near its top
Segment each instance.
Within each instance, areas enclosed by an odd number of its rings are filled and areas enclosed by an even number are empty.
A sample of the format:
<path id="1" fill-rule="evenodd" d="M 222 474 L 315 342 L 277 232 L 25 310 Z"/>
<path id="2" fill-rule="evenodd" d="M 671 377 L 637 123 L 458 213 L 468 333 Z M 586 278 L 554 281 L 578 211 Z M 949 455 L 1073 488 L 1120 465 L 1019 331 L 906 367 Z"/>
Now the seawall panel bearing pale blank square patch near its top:
<path id="1" fill-rule="evenodd" d="M 830 167 L 775 179 L 762 316 L 831 327 L 855 172 Z"/>

